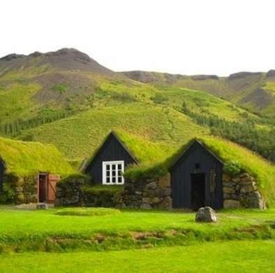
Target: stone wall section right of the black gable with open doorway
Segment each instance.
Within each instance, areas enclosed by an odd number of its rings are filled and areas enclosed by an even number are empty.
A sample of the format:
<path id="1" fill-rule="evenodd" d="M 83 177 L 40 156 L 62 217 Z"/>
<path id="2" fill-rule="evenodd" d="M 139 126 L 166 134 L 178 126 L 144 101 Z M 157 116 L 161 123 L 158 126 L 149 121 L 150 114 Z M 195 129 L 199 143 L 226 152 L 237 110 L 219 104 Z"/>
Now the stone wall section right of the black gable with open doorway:
<path id="1" fill-rule="evenodd" d="M 235 177 L 223 174 L 223 200 L 225 209 L 265 209 L 265 200 L 257 188 L 257 183 L 253 176 L 247 173 Z"/>

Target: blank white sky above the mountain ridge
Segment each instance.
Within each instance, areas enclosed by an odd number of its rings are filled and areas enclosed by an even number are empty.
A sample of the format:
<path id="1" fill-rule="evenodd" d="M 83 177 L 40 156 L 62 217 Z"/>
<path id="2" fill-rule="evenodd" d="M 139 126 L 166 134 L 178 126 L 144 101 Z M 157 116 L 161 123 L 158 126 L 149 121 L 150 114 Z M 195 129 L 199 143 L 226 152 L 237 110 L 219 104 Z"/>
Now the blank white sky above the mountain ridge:
<path id="1" fill-rule="evenodd" d="M 274 0 L 1 0 L 0 56 L 76 48 L 114 71 L 268 71 L 274 12 Z"/>

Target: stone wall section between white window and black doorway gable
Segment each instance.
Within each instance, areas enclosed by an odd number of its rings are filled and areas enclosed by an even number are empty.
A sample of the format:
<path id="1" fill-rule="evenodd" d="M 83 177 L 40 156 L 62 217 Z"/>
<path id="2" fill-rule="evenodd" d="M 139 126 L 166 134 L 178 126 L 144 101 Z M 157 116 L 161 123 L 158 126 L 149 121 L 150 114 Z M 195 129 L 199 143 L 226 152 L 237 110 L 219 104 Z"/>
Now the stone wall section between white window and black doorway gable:
<path id="1" fill-rule="evenodd" d="M 124 207 L 140 209 L 171 209 L 170 174 L 159 179 L 129 181 L 126 179 L 123 194 Z"/>

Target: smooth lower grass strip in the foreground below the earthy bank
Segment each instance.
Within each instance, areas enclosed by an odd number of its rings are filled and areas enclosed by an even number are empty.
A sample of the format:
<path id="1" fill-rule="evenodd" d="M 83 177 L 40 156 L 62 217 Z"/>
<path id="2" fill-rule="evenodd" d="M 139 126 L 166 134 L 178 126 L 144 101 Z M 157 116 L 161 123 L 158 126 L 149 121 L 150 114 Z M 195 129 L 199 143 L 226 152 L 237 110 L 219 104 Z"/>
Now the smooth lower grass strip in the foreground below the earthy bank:
<path id="1" fill-rule="evenodd" d="M 130 251 L 3 255 L 1 272 L 274 272 L 275 241 Z"/>

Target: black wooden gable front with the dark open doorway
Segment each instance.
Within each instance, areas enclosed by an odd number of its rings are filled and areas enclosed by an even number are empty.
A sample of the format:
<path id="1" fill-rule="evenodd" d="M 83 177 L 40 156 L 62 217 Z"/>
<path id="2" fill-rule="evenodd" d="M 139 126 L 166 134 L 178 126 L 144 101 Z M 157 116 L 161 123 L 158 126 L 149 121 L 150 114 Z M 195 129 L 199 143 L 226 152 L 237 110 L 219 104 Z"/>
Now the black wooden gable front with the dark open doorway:
<path id="1" fill-rule="evenodd" d="M 193 141 L 170 174 L 174 208 L 223 207 L 223 162 L 200 141 Z"/>

